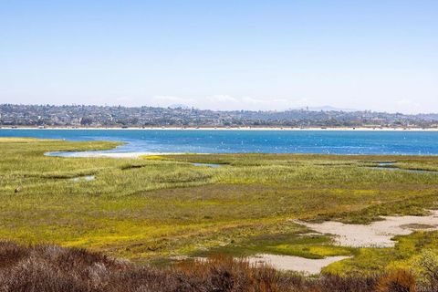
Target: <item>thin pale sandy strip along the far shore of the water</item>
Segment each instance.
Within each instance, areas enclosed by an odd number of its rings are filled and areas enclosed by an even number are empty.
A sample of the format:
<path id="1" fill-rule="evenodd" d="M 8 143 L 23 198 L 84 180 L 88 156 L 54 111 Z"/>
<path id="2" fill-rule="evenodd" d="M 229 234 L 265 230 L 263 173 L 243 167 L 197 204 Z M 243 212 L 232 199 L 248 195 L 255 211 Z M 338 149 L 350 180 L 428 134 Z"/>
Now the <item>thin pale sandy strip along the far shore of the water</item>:
<path id="1" fill-rule="evenodd" d="M 0 130 L 284 130 L 284 131 L 438 131 L 438 128 L 382 128 L 382 127 L 0 127 Z"/>

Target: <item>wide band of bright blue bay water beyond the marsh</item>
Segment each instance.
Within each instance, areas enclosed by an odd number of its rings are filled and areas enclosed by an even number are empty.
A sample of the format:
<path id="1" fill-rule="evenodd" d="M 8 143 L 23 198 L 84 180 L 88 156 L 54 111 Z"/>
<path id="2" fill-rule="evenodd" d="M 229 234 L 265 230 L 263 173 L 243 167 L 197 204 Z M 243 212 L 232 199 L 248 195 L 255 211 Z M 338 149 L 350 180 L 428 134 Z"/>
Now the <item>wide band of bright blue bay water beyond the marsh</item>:
<path id="1" fill-rule="evenodd" d="M 110 152 L 438 155 L 436 131 L 0 129 L 0 137 L 127 142 Z"/>

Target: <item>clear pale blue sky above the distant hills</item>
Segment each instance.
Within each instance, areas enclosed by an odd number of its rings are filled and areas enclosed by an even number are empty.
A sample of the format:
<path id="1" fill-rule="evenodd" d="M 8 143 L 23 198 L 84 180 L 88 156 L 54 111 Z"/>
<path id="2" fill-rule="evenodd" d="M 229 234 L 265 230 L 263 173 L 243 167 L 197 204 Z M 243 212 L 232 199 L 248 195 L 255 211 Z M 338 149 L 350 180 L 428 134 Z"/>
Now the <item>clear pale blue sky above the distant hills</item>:
<path id="1" fill-rule="evenodd" d="M 438 1 L 0 0 L 0 103 L 438 112 Z"/>

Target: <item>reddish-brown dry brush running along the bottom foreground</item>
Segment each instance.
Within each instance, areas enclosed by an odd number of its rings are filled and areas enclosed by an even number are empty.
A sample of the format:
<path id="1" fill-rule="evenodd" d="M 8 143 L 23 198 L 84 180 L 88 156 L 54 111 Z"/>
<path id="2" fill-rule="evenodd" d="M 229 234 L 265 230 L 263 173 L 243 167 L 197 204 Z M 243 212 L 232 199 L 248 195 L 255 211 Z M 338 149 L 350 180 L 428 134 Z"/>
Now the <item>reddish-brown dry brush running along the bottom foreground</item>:
<path id="1" fill-rule="evenodd" d="M 57 245 L 22 246 L 0 242 L 1 292 L 414 292 L 407 271 L 382 276 L 320 276 L 279 273 L 269 266 L 216 256 L 166 268 L 138 266 L 84 249 Z"/>

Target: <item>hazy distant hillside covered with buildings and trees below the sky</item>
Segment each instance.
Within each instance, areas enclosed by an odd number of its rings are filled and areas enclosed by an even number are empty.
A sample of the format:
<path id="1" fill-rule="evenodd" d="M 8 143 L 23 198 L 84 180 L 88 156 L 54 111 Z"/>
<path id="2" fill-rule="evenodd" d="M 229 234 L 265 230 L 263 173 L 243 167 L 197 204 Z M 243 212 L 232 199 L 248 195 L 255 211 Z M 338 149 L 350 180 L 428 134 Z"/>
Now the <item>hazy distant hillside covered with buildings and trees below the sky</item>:
<path id="1" fill-rule="evenodd" d="M 391 127 L 438 128 L 438 114 L 405 115 L 332 107 L 309 110 L 196 110 L 80 105 L 0 105 L 1 126 L 58 127 Z"/>

